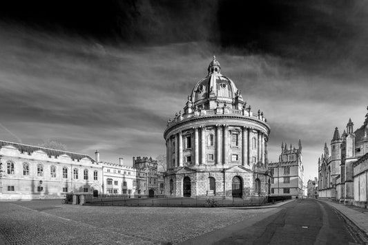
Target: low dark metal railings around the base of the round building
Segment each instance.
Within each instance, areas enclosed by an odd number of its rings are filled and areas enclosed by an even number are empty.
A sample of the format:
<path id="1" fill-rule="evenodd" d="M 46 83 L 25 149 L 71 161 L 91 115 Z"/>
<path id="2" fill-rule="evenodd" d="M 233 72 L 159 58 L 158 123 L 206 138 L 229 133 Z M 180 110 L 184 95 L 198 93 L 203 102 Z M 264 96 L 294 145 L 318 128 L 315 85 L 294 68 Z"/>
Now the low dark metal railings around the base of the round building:
<path id="1" fill-rule="evenodd" d="M 272 203 L 272 202 L 271 202 Z M 129 195 L 86 196 L 87 205 L 101 206 L 261 206 L 271 204 L 268 196 L 248 196 L 244 198 L 191 196 L 158 196 L 148 198 L 146 195 L 132 197 Z"/>

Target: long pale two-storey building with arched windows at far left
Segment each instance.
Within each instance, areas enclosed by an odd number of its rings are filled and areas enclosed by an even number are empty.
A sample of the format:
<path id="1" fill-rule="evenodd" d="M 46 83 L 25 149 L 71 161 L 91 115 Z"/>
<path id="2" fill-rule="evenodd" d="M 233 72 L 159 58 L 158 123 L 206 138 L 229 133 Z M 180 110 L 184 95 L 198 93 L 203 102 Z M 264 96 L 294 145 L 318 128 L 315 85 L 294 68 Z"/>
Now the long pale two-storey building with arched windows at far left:
<path id="1" fill-rule="evenodd" d="M 0 141 L 0 162 L 0 200 L 102 191 L 102 166 L 88 155 Z"/>

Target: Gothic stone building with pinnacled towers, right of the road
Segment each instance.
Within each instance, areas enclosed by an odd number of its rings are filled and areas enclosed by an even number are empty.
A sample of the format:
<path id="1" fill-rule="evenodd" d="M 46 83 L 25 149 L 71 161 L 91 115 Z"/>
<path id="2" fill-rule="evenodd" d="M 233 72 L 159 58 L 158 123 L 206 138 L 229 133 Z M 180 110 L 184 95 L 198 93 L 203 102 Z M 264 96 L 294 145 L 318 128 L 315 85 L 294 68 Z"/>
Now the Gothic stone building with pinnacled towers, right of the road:
<path id="1" fill-rule="evenodd" d="M 367 108 L 368 109 L 368 108 Z M 331 154 L 325 143 L 322 156 L 318 159 L 318 195 L 340 202 L 354 204 L 358 189 L 365 190 L 365 156 L 368 153 L 368 114 L 363 125 L 354 131 L 354 123 L 347 123 L 342 136 L 336 127 L 331 140 Z M 360 180 L 360 178 L 363 178 Z M 358 184 L 356 184 L 358 183 Z M 360 201 L 359 201 L 360 202 Z M 367 201 L 365 201 L 367 202 Z"/>

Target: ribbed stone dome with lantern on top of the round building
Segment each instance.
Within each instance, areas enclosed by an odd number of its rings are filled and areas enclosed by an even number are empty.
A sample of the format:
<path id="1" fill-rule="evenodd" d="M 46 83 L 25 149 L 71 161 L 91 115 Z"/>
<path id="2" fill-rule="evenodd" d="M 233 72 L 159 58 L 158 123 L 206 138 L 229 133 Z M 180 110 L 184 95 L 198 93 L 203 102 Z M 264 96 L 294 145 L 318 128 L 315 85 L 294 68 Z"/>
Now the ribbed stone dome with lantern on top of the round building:
<path id="1" fill-rule="evenodd" d="M 235 99 L 242 100 L 240 91 L 230 78 L 221 74 L 220 63 L 213 56 L 209 64 L 209 74 L 197 82 L 191 93 L 191 103 L 194 106 L 202 105 L 203 109 L 213 109 L 209 100 L 218 103 L 228 103 L 231 105 Z"/>

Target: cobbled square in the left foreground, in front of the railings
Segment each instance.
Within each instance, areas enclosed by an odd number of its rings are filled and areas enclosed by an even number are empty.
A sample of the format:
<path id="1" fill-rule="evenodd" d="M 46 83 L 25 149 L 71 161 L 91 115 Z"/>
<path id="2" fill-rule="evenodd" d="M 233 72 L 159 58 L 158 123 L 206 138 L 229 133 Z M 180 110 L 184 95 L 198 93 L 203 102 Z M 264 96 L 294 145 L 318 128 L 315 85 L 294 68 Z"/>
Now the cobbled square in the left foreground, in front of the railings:
<path id="1" fill-rule="evenodd" d="M 273 209 L 0 202 L 0 242 L 2 236 L 10 244 L 175 244 Z"/>

